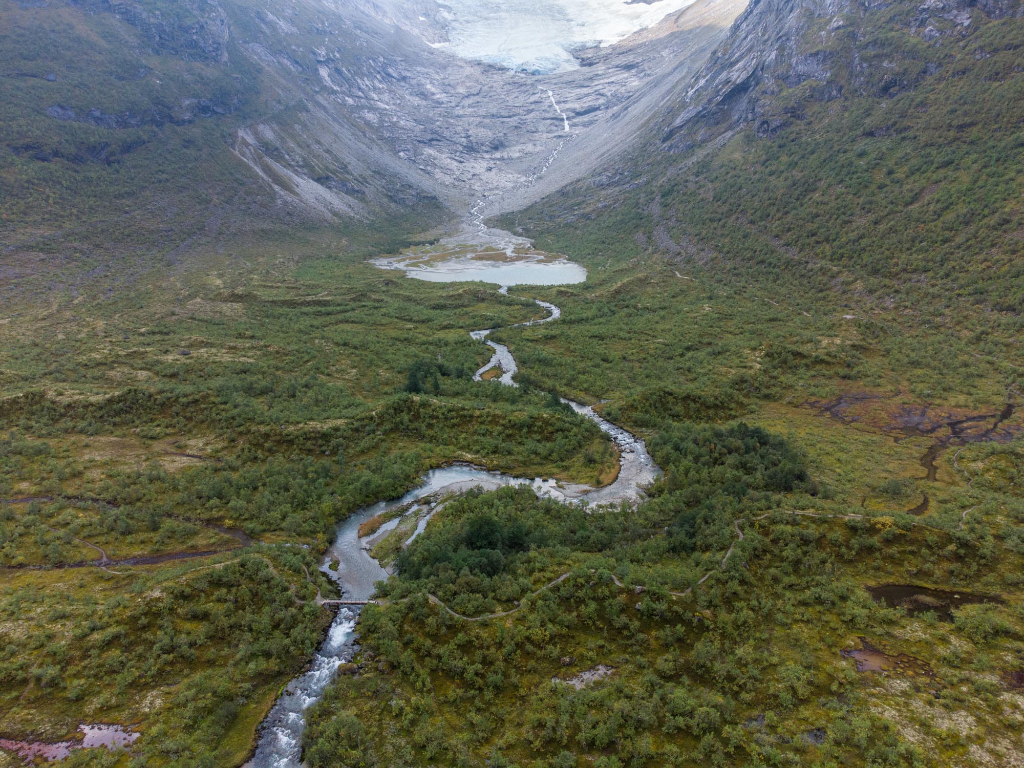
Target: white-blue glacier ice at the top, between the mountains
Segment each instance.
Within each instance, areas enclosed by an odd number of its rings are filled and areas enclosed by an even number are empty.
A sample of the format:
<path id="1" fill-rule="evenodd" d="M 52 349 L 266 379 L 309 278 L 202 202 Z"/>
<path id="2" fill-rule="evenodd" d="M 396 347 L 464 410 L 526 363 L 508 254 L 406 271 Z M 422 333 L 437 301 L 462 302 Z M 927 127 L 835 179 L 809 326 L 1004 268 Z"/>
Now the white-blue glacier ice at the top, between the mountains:
<path id="1" fill-rule="evenodd" d="M 536 74 L 579 67 L 572 51 L 657 24 L 693 0 L 438 0 L 453 53 Z"/>

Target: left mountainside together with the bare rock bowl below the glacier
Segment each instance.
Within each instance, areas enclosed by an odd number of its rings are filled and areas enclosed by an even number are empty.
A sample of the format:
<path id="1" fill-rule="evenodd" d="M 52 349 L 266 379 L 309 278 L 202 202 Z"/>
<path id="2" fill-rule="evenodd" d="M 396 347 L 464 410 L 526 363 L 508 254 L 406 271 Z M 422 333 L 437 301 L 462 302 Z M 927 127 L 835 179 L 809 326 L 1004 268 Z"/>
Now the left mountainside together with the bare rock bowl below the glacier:
<path id="1" fill-rule="evenodd" d="M 6 276 L 524 205 L 628 146 L 740 7 L 538 78 L 434 47 L 435 3 L 3 0 Z"/>

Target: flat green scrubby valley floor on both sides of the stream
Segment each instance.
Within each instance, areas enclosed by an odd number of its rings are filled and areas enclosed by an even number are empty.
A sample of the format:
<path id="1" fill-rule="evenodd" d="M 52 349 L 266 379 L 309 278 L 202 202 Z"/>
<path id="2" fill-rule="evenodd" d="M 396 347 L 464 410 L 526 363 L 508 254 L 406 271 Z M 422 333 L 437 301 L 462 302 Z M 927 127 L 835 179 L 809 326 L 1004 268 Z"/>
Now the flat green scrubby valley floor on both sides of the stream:
<path id="1" fill-rule="evenodd" d="M 771 272 L 570 255 L 586 283 L 507 296 L 253 253 L 2 318 L 0 737 L 121 724 L 130 758 L 67 763 L 241 764 L 331 621 L 339 520 L 451 462 L 614 478 L 557 392 L 665 477 L 599 513 L 470 493 L 391 547 L 311 766 L 1019 764 L 1011 347 Z M 511 328 L 532 299 L 558 322 Z M 473 380 L 480 328 L 518 388 Z"/>

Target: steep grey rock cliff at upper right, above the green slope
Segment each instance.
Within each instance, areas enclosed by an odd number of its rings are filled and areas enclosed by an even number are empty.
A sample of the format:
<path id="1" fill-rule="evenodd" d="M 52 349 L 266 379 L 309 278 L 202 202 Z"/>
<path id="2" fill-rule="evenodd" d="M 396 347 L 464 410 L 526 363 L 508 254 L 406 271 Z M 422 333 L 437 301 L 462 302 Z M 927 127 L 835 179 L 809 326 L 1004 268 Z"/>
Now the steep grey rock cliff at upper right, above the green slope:
<path id="1" fill-rule="evenodd" d="M 1020 16 L 1018 0 L 754 0 L 686 89 L 665 130 L 673 148 L 755 124 L 759 136 L 809 102 L 893 98 L 941 74 L 979 19 Z"/>

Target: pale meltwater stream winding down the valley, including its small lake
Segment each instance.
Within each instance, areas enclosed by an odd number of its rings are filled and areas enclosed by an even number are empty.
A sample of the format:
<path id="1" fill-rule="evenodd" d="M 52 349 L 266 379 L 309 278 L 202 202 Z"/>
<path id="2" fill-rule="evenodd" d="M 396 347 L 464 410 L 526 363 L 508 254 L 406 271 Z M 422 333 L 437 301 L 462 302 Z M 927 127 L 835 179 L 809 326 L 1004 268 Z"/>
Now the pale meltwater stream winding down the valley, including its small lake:
<path id="1" fill-rule="evenodd" d="M 487 255 L 502 254 L 505 257 L 503 260 L 474 259 L 473 256 L 477 254 L 472 248 L 450 243 L 441 244 L 427 259 L 403 257 L 380 259 L 374 263 L 383 268 L 403 269 L 411 278 L 431 282 L 480 281 L 498 284 L 504 294 L 508 293 L 512 285 L 565 285 L 582 283 L 587 279 L 586 270 L 579 264 L 530 252 L 528 241 L 493 229 L 486 230 L 486 233 L 501 238 L 487 239 L 487 245 L 480 251 Z M 544 301 L 537 301 L 537 304 L 544 308 L 548 315 L 520 323 L 519 327 L 551 323 L 561 315 L 561 310 L 554 304 Z M 470 334 L 474 339 L 485 342 L 494 349 L 490 360 L 477 372 L 474 379 L 479 381 L 483 373 L 498 369 L 501 371 L 501 377 L 497 378 L 498 382 L 506 386 L 518 386 L 513 381 L 517 369 L 512 353 L 504 344 L 487 340 L 488 334 L 494 330 L 473 331 Z M 610 485 L 594 488 L 589 485 L 556 482 L 550 478 L 515 477 L 469 465 L 434 469 L 424 475 L 423 484 L 415 490 L 411 490 L 400 499 L 380 502 L 359 510 L 342 522 L 338 526 L 337 538 L 327 553 L 321 570 L 337 582 L 345 600 L 370 599 L 374 594 L 374 585 L 378 581 L 387 579 L 389 574 L 371 557 L 369 552 L 371 545 L 359 538 L 359 525 L 376 515 L 409 505 L 410 514 L 418 512 L 421 515 L 420 524 L 409 539 L 412 541 L 422 532 L 430 516 L 445 498 L 473 487 L 494 489 L 503 485 L 528 485 L 538 496 L 565 504 L 580 503 L 584 500 L 590 504 L 622 502 L 635 504 L 640 501 L 643 488 L 660 474 L 643 440 L 602 419 L 591 407 L 564 398 L 563 402 L 597 424 L 615 443 L 620 454 L 620 471 L 618 477 Z M 334 563 L 337 563 L 337 566 L 332 569 Z M 334 679 L 338 668 L 351 658 L 357 610 L 355 607 L 340 607 L 338 615 L 331 625 L 328 638 L 313 658 L 310 670 L 289 683 L 264 721 L 259 744 L 252 760 L 246 764 L 247 768 L 301 766 L 304 712 L 323 695 L 324 689 Z"/>

